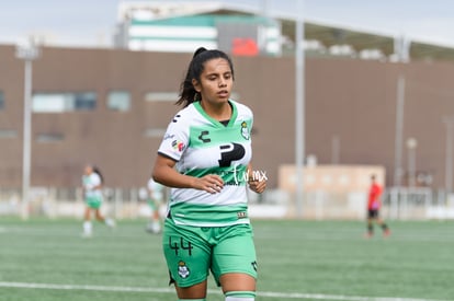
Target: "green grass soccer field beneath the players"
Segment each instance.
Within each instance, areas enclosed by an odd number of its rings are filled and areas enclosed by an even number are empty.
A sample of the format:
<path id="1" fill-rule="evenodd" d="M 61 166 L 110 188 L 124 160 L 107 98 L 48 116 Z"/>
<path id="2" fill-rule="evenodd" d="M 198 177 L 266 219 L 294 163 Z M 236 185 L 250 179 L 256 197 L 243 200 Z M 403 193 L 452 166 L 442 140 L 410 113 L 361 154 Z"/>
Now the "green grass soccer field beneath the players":
<path id="1" fill-rule="evenodd" d="M 145 220 L 0 218 L 0 300 L 177 300 L 160 235 Z M 454 300 L 454 223 L 390 222 L 364 239 L 364 222 L 254 220 L 256 300 Z M 208 301 L 223 301 L 209 279 Z"/>

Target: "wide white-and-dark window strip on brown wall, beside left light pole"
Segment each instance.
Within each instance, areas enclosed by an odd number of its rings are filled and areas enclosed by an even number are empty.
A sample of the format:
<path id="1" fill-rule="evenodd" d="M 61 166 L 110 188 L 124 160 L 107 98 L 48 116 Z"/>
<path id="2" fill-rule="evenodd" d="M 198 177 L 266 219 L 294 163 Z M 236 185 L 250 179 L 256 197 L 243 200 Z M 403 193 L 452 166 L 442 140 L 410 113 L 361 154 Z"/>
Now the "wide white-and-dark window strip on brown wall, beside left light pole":
<path id="1" fill-rule="evenodd" d="M 97 93 L 36 93 L 33 95 L 33 112 L 63 113 L 93 111 L 97 107 Z"/>

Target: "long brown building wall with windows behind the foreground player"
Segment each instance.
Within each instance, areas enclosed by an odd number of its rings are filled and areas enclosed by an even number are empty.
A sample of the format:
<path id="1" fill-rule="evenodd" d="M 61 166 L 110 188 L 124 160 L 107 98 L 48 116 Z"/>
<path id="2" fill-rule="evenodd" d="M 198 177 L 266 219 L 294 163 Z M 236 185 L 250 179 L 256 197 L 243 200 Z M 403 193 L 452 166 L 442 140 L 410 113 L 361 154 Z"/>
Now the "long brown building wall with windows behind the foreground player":
<path id="1" fill-rule="evenodd" d="M 109 185 L 143 185 L 161 135 L 178 107 L 178 88 L 191 55 L 109 49 L 44 48 L 33 69 L 32 185 L 73 186 L 87 162 L 105 172 Z M 294 162 L 293 58 L 238 57 L 235 97 L 256 114 L 254 165 L 277 184 L 280 164 Z M 20 186 L 23 126 L 23 61 L 13 46 L 0 47 L 0 183 Z M 405 77 L 405 140 L 418 140 L 417 170 L 430 185 L 445 183 L 445 118 L 454 116 L 446 62 L 391 63 L 307 58 L 306 151 L 318 164 L 395 169 L 396 103 Z M 52 104 L 52 105 L 49 105 Z"/>

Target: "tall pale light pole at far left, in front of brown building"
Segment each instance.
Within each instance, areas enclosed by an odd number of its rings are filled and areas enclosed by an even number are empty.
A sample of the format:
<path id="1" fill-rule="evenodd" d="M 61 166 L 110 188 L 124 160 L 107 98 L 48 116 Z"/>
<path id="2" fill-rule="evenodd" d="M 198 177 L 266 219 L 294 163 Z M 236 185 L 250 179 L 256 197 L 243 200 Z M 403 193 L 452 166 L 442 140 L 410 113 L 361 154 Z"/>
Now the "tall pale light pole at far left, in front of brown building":
<path id="1" fill-rule="evenodd" d="M 15 57 L 25 61 L 24 73 L 24 131 L 22 153 L 22 218 L 29 218 L 30 175 L 32 162 L 32 61 L 39 56 L 39 48 L 30 40 L 18 44 Z"/>

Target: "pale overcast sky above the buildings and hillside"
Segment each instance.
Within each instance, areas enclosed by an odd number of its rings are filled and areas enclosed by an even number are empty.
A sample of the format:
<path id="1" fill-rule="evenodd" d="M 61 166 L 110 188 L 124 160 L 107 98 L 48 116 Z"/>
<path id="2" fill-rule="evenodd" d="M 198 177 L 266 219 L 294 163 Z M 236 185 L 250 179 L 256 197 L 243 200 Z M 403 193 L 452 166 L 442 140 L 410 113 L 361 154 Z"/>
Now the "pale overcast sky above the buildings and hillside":
<path id="1" fill-rule="evenodd" d="M 186 2 L 184 0 L 180 0 Z M 265 0 L 224 0 L 260 7 Z M 272 12 L 294 14 L 298 0 L 268 0 Z M 0 44 L 44 34 L 53 45 L 110 46 L 120 0 L 0 0 Z M 146 1 L 141 1 L 146 2 Z M 454 47 L 452 0 L 303 0 L 304 18 L 383 35 Z"/>

